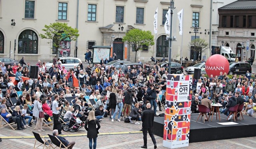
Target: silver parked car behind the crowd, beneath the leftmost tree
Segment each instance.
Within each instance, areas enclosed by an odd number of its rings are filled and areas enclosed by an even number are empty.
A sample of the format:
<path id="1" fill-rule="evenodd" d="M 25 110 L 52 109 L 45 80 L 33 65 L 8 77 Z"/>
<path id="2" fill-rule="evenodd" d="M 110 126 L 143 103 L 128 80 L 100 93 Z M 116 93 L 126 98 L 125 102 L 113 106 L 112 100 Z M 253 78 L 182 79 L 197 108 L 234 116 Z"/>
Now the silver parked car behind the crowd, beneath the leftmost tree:
<path id="1" fill-rule="evenodd" d="M 79 58 L 74 57 L 59 57 L 60 62 L 62 62 L 61 66 L 65 66 L 66 70 L 69 70 L 70 68 L 74 68 L 74 65 L 78 66 L 79 62 L 82 62 Z M 50 68 L 52 68 L 52 60 L 45 64 L 46 71 L 48 72 Z M 85 68 L 86 66 L 84 66 Z"/>

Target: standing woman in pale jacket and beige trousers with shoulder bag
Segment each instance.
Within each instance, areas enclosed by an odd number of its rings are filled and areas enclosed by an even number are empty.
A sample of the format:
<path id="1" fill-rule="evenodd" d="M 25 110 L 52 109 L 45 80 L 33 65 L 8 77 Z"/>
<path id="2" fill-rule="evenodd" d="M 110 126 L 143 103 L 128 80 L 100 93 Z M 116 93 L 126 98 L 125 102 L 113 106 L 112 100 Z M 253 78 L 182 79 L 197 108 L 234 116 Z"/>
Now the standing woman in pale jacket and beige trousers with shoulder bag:
<path id="1" fill-rule="evenodd" d="M 33 116 L 36 117 L 36 127 L 34 129 L 36 129 L 37 131 L 44 131 L 44 129 L 42 129 L 43 118 L 39 118 L 39 112 L 43 111 L 42 105 L 39 101 L 40 101 L 40 96 L 37 95 L 34 101 L 34 109 L 33 109 Z"/>

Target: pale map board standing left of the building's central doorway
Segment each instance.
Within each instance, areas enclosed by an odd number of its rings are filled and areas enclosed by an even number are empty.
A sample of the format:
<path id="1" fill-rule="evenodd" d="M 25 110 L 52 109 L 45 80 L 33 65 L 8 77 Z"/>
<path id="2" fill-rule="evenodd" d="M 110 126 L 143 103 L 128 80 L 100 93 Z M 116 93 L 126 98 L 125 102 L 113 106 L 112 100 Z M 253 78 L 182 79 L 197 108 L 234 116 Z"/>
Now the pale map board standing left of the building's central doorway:
<path id="1" fill-rule="evenodd" d="M 110 57 L 110 48 L 94 48 L 93 54 L 92 54 L 93 63 L 100 63 L 100 60 L 103 58 L 103 60 L 106 60 L 106 58 L 109 60 Z"/>

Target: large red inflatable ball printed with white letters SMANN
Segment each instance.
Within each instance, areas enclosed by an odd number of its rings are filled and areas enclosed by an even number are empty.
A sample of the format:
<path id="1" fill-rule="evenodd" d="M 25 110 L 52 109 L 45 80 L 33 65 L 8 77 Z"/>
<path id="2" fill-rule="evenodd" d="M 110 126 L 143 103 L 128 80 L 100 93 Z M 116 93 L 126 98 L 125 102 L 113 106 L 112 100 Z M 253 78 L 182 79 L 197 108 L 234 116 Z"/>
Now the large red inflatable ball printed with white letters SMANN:
<path id="1" fill-rule="evenodd" d="M 226 72 L 228 74 L 229 62 L 224 56 L 220 54 L 214 54 L 213 56 L 210 56 L 210 58 L 208 58 L 206 61 L 205 71 L 209 77 L 211 74 L 213 77 L 216 75 L 219 76 L 220 72 L 223 74 Z"/>

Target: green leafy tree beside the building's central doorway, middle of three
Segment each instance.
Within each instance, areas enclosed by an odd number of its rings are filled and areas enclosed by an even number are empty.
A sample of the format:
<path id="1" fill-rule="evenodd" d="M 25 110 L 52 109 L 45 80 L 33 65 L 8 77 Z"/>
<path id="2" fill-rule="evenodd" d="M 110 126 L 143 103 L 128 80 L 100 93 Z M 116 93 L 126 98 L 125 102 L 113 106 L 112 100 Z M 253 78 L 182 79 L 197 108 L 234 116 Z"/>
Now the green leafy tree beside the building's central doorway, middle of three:
<path id="1" fill-rule="evenodd" d="M 154 45 L 154 36 L 150 31 L 132 29 L 125 34 L 123 42 L 127 42 L 127 44 L 135 51 L 136 62 L 137 52 L 139 50 Z"/>

